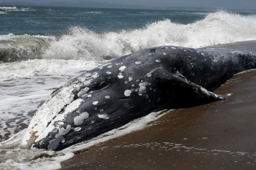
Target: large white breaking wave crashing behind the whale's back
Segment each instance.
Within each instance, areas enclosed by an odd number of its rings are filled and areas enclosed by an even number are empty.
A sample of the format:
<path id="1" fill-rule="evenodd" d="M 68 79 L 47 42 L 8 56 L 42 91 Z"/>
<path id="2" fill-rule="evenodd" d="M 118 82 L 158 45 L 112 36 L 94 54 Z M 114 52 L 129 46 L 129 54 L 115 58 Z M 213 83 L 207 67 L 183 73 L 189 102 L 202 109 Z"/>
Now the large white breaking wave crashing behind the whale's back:
<path id="1" fill-rule="evenodd" d="M 94 32 L 71 27 L 59 37 L 0 36 L 0 61 L 26 59 L 84 59 L 99 61 L 143 48 L 178 45 L 192 48 L 227 42 L 256 40 L 256 16 L 218 11 L 190 24 L 160 20 L 144 28 L 117 32 Z M 6 38 L 6 39 L 5 39 Z M 3 45 L 4 44 L 4 45 Z"/>

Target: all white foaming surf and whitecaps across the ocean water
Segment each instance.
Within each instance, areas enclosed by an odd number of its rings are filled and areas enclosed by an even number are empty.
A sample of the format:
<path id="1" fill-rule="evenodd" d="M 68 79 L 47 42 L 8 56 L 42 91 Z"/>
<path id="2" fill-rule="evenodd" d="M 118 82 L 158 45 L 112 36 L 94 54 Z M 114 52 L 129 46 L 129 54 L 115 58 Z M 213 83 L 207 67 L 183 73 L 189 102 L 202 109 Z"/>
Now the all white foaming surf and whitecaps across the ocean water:
<path id="1" fill-rule="evenodd" d="M 0 7 L 0 16 L 36 10 L 39 9 Z M 58 9 L 48 11 L 53 13 Z M 98 16 L 110 12 L 91 9 L 85 11 L 85 14 Z M 179 23 L 162 17 L 153 22 L 148 21 L 139 28 L 128 26 L 114 31 L 69 26 L 67 31 L 58 34 L 10 32 L 0 35 L 0 169 L 58 169 L 61 168 L 61 161 L 71 159 L 76 150 L 145 128 L 150 125 L 149 122 L 168 113 L 151 113 L 124 127 L 58 152 L 20 147 L 26 127 L 38 107 L 55 88 L 84 71 L 110 59 L 152 46 L 200 48 L 256 40 L 255 14 L 243 15 L 227 11 L 180 11 L 179 14 L 200 15 L 203 18 L 191 23 Z"/>

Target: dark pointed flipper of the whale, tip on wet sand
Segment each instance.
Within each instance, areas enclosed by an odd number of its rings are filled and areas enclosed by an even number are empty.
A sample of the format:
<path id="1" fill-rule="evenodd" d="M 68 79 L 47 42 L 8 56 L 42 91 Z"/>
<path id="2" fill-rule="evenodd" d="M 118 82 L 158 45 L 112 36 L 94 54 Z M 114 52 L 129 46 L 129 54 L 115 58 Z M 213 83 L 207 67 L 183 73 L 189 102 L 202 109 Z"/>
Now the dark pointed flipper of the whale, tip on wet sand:
<path id="1" fill-rule="evenodd" d="M 212 93 L 201 85 L 190 82 L 182 74 L 172 74 L 163 67 L 154 70 L 154 78 L 167 85 L 179 85 L 184 90 L 188 90 L 200 98 L 206 98 L 209 100 L 227 99 L 227 96 Z"/>

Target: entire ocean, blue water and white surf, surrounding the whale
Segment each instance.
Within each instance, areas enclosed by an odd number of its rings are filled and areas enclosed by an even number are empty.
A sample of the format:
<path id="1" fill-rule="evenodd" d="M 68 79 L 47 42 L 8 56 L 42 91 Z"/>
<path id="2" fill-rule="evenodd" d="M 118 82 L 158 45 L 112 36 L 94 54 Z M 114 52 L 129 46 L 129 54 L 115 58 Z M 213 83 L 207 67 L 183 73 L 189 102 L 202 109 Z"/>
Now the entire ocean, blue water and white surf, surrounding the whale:
<path id="1" fill-rule="evenodd" d="M 151 113 L 60 152 L 20 147 L 35 111 L 69 79 L 152 46 L 200 48 L 256 40 L 255 28 L 256 11 L 251 10 L 0 6 L 0 169 L 56 169 L 73 157 L 74 150 L 143 128 L 163 116 Z"/>

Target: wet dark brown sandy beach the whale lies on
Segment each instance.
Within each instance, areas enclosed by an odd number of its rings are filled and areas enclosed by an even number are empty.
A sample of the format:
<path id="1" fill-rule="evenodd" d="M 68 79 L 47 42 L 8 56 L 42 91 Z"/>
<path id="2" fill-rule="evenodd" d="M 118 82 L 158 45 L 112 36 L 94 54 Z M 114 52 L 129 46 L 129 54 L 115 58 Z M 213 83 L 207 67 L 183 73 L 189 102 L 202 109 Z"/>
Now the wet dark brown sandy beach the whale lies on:
<path id="1" fill-rule="evenodd" d="M 76 153 L 61 170 L 254 170 L 256 71 L 214 92 L 232 95 L 170 111 L 143 130 Z"/>

